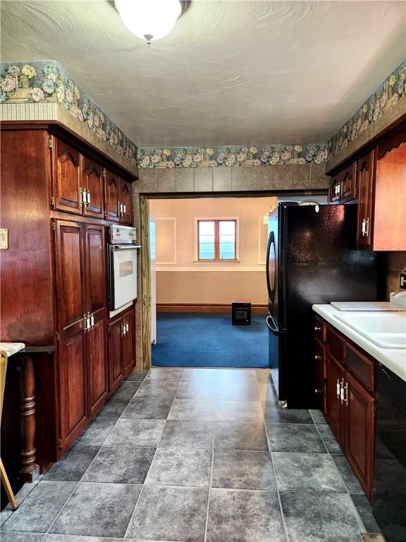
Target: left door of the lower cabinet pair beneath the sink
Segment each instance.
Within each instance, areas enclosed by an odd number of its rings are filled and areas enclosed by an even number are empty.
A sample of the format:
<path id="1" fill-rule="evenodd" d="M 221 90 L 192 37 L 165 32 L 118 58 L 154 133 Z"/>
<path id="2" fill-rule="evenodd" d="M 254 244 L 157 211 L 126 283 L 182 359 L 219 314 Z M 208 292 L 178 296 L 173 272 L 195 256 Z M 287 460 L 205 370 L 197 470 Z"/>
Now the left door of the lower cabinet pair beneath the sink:
<path id="1" fill-rule="evenodd" d="M 344 382 L 345 369 L 331 354 L 326 352 L 327 361 L 327 418 L 337 440 L 344 449 L 345 409 L 338 393 L 338 386 Z"/>

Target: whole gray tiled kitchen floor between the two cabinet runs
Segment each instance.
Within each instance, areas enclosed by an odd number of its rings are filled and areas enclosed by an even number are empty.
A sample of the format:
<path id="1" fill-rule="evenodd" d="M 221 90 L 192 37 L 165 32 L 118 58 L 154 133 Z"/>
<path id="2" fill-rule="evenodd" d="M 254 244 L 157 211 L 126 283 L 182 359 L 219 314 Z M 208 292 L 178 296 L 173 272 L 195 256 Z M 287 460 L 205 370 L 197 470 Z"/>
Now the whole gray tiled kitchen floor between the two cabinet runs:
<path id="1" fill-rule="evenodd" d="M 320 411 L 269 371 L 132 373 L 1 512 L 1 542 L 362 542 L 379 532 Z"/>

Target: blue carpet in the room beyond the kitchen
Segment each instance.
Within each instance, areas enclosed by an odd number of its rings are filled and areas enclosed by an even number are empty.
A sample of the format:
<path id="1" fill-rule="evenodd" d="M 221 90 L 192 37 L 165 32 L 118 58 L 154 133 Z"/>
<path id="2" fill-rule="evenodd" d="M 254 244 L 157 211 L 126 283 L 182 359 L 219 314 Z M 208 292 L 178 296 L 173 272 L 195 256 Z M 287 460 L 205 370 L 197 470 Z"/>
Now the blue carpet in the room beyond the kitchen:
<path id="1" fill-rule="evenodd" d="M 268 368 L 265 318 L 232 325 L 228 313 L 157 313 L 152 365 Z"/>

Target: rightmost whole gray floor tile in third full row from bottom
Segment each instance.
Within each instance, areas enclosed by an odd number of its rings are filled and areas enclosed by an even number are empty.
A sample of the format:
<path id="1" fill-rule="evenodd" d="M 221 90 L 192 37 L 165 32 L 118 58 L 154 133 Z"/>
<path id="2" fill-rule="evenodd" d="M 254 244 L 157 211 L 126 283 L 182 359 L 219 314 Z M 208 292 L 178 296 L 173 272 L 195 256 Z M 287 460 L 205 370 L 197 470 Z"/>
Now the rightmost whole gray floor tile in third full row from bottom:
<path id="1" fill-rule="evenodd" d="M 266 423 L 269 449 L 273 452 L 323 453 L 327 450 L 316 426 L 299 423 Z"/>

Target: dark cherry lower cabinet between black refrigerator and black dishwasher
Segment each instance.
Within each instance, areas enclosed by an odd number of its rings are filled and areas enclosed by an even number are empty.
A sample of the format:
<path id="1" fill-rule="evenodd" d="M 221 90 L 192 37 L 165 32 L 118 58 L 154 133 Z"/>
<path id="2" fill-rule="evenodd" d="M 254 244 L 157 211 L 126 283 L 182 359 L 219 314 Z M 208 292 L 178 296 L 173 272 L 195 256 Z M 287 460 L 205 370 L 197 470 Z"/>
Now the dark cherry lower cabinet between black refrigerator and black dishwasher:
<path id="1" fill-rule="evenodd" d="M 317 317 L 316 325 L 320 326 Z M 374 483 L 375 361 L 328 323 L 326 379 L 316 373 L 316 388 L 326 390 L 326 418 L 369 500 Z M 316 351 L 320 351 L 319 337 Z"/>

